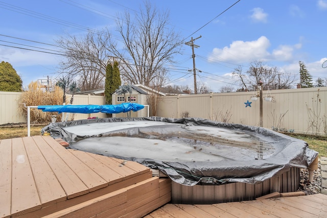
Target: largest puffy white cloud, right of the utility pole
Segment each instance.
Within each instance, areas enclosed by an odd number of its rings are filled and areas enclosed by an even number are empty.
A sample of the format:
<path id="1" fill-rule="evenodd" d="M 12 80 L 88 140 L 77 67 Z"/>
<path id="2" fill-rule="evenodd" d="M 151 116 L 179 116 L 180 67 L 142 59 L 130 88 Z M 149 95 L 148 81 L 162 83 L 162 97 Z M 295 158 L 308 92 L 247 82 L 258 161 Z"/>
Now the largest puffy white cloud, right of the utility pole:
<path id="1" fill-rule="evenodd" d="M 215 48 L 209 55 L 209 60 L 223 60 L 233 63 L 249 63 L 253 60 L 292 62 L 294 52 L 301 48 L 301 43 L 295 45 L 279 45 L 270 53 L 270 41 L 261 36 L 253 41 L 233 41 L 223 49 Z"/>

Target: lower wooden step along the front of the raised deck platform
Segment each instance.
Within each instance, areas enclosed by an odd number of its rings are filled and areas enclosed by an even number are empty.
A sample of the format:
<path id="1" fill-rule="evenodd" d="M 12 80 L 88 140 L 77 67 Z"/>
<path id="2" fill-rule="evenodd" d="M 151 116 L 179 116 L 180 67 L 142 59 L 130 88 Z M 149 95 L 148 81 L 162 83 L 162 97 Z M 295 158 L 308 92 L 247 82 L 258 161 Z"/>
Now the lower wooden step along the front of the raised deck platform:
<path id="1" fill-rule="evenodd" d="M 171 200 L 171 180 L 152 177 L 44 217 L 143 217 Z"/>

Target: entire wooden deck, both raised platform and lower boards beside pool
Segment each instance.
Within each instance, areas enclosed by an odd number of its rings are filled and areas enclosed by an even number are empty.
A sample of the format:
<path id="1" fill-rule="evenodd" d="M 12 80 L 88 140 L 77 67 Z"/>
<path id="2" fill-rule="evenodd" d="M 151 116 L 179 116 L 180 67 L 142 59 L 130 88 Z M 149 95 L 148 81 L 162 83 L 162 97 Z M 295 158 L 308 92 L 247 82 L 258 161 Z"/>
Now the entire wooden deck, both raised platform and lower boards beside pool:
<path id="1" fill-rule="evenodd" d="M 0 140 L 0 217 L 327 217 L 321 194 L 166 204 L 171 187 L 141 164 L 65 149 L 50 136 Z"/>

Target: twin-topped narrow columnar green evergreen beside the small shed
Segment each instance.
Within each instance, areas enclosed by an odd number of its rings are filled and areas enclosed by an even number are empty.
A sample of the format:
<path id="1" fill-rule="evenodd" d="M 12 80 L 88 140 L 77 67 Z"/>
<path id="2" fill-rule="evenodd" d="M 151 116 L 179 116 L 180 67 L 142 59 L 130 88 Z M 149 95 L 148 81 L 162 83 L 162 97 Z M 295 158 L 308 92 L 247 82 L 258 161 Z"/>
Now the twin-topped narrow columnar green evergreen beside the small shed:
<path id="1" fill-rule="evenodd" d="M 106 104 L 112 104 L 112 93 L 119 88 L 122 84 L 121 75 L 119 72 L 118 62 L 114 61 L 113 66 L 111 64 L 107 64 L 106 67 L 106 80 L 105 80 L 105 96 L 106 96 Z"/>

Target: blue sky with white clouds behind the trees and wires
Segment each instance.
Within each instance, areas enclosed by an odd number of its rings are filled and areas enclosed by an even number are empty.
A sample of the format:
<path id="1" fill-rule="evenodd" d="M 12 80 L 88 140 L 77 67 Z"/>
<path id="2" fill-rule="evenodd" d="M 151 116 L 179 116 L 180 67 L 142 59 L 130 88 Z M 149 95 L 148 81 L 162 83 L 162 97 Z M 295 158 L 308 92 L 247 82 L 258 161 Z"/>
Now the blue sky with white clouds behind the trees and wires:
<path id="1" fill-rule="evenodd" d="M 184 42 L 201 36 L 194 41 L 197 82 L 213 92 L 224 86 L 240 88 L 231 72 L 239 66 L 246 70 L 253 61 L 296 75 L 294 87 L 299 82 L 299 61 L 313 81 L 327 78 L 327 68 L 322 68 L 327 60 L 327 0 L 149 2 L 169 12 L 170 27 Z M 105 27 L 115 34 L 117 14 L 138 13 L 141 7 L 144 1 L 136 0 L 0 0 L 0 61 L 13 66 L 23 87 L 48 77 L 55 81 L 63 60 L 56 55 L 56 39 Z M 167 68 L 166 85 L 193 89 L 191 46 L 184 44 Z"/>

